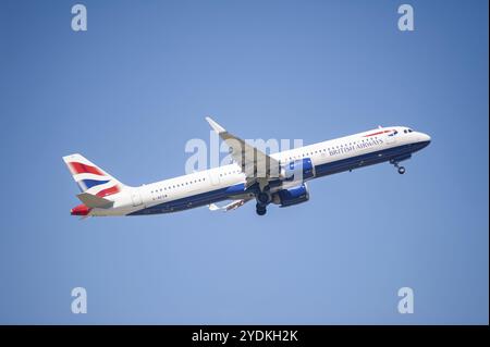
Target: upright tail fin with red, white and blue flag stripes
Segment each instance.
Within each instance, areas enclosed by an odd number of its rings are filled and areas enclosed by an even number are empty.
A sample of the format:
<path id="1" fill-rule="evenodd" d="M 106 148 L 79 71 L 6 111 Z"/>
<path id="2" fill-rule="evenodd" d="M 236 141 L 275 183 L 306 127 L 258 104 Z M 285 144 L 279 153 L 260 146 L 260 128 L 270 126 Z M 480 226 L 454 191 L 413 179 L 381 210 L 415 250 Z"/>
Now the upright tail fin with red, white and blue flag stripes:
<path id="1" fill-rule="evenodd" d="M 124 187 L 121 182 L 91 163 L 82 154 L 63 157 L 63 161 L 82 193 L 88 193 L 103 198 L 121 191 Z"/>

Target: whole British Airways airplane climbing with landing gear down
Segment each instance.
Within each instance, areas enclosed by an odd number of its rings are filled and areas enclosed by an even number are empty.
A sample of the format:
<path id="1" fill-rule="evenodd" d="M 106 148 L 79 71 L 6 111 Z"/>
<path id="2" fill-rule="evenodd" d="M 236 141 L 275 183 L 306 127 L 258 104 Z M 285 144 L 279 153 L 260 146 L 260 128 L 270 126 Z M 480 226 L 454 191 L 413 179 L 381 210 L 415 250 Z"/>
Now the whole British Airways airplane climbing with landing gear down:
<path id="1" fill-rule="evenodd" d="M 429 135 L 406 126 L 390 126 L 267 154 L 226 132 L 210 117 L 211 128 L 230 147 L 233 162 L 139 187 L 122 184 L 81 154 L 63 157 L 81 189 L 82 205 L 72 215 L 149 215 L 208 206 L 231 211 L 256 201 L 265 215 L 269 205 L 281 208 L 309 200 L 307 182 L 327 175 L 389 162 L 400 174 L 400 162 L 427 147 Z M 231 200 L 219 207 L 218 202 Z"/>

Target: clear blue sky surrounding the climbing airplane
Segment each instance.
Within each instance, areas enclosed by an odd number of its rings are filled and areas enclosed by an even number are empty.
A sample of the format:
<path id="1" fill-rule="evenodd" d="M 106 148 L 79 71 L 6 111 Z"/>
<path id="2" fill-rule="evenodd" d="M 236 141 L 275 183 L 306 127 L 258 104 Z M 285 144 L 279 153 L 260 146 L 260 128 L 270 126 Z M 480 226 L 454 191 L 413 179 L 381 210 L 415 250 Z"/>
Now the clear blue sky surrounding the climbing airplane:
<path id="1" fill-rule="evenodd" d="M 0 323 L 488 324 L 488 2 L 0 2 Z M 184 173 L 212 115 L 313 144 L 407 125 L 406 162 L 290 209 L 78 221 L 61 157 L 128 185 Z M 88 313 L 71 313 L 83 286 Z M 397 312 L 397 289 L 415 313 Z"/>

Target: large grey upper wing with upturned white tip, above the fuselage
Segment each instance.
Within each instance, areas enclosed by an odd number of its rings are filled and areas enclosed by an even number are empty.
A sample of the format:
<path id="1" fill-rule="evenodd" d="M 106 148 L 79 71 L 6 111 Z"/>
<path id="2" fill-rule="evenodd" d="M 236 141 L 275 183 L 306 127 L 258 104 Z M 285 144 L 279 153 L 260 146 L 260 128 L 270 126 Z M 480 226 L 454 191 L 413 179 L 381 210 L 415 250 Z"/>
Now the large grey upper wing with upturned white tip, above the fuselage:
<path id="1" fill-rule="evenodd" d="M 271 178 L 279 176 L 280 163 L 278 160 L 245 142 L 240 137 L 230 134 L 209 116 L 206 117 L 206 121 L 223 141 L 230 146 L 230 154 L 241 165 L 242 172 L 246 176 L 245 187 L 249 187 L 256 182 L 259 183 L 260 187 L 264 187 Z"/>

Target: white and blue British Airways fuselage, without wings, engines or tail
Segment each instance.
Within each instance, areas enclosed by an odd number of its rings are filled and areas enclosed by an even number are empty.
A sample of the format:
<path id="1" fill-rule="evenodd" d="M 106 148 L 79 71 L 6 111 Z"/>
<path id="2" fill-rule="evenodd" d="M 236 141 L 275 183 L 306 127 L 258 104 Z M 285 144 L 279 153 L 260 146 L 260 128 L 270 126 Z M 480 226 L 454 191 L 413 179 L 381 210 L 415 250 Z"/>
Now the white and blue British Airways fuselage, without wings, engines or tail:
<path id="1" fill-rule="evenodd" d="M 281 163 L 309 158 L 315 168 L 311 178 L 317 178 L 375 163 L 401 161 L 429 142 L 430 137 L 426 134 L 394 126 L 285 150 L 270 157 Z M 107 197 L 114 202 L 112 208 L 95 208 L 89 215 L 167 213 L 253 196 L 253 191 L 245 189 L 245 174 L 233 163 L 140 187 L 124 187 L 122 191 Z M 289 185 L 291 183 L 279 183 L 272 191 L 289 188 Z"/>

